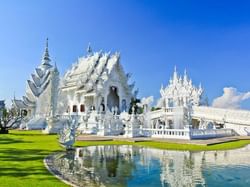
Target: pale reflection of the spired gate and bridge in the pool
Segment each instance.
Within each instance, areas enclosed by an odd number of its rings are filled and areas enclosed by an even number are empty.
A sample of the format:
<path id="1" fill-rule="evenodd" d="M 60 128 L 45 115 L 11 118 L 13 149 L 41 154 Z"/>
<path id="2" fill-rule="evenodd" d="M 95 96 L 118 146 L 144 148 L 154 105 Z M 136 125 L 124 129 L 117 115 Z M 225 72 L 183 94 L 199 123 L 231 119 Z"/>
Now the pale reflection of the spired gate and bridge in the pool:
<path id="1" fill-rule="evenodd" d="M 148 162 L 159 158 L 162 184 L 171 186 L 206 186 L 203 170 L 209 167 L 250 166 L 250 146 L 225 151 L 169 151 L 141 148 L 140 154 Z M 224 173 L 220 173 L 223 178 Z M 164 186 L 164 185 L 162 185 Z"/>

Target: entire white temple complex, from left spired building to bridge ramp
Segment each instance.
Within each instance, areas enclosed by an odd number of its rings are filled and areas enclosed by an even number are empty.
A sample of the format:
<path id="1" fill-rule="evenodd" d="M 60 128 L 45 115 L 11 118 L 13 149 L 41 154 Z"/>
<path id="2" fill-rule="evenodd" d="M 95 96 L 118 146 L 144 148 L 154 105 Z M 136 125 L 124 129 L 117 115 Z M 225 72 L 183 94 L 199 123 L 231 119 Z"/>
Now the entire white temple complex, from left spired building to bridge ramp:
<path id="1" fill-rule="evenodd" d="M 160 89 L 159 110 L 151 111 L 153 98 L 149 97 L 137 104 L 143 107 L 142 114 L 135 107 L 129 114 L 137 91 L 129 83 L 130 74 L 124 72 L 119 53 L 93 52 L 89 46 L 87 55 L 78 58 L 62 78 L 50 62 L 47 41 L 42 62 L 27 81 L 25 96 L 13 100 L 28 113 L 22 129 L 57 133 L 73 117 L 80 133 L 100 136 L 195 139 L 250 135 L 250 111 L 204 106 L 201 85 L 194 86 L 186 71 L 179 76 L 175 68 L 169 84 Z"/>

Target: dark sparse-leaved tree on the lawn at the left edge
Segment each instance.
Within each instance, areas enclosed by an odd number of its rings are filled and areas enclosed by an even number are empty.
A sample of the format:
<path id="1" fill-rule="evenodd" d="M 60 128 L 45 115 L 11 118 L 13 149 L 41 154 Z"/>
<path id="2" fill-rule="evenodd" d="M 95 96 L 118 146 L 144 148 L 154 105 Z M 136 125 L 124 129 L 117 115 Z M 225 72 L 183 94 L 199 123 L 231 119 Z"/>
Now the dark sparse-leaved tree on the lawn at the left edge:
<path id="1" fill-rule="evenodd" d="M 0 110 L 0 134 L 8 134 L 9 129 L 14 125 L 21 123 L 24 113 L 18 113 L 15 109 L 7 110 L 3 108 Z"/>

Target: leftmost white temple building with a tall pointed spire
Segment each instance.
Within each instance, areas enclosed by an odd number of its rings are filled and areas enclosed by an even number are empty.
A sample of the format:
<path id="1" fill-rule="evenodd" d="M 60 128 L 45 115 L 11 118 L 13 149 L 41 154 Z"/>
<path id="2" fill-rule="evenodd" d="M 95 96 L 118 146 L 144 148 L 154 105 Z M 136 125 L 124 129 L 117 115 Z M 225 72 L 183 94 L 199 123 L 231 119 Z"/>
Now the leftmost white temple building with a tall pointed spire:
<path id="1" fill-rule="evenodd" d="M 14 106 L 27 111 L 29 120 L 24 124 L 27 129 L 45 128 L 46 118 L 56 114 L 59 72 L 50 62 L 47 39 L 42 62 L 27 80 L 25 96 L 22 100 L 13 99 Z"/>

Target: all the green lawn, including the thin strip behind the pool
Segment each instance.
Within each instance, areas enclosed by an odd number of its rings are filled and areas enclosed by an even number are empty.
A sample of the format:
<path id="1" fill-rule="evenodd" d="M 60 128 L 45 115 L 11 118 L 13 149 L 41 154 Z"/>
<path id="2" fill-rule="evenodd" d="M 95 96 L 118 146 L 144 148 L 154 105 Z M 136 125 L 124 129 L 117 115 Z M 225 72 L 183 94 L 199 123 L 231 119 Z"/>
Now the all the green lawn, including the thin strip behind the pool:
<path id="1" fill-rule="evenodd" d="M 243 147 L 250 140 L 242 140 L 213 146 L 184 145 L 159 142 L 76 142 L 76 146 L 131 144 L 161 149 L 220 150 Z M 39 131 L 11 131 L 0 135 L 0 186 L 1 187 L 57 187 L 67 186 L 52 176 L 44 167 L 43 159 L 62 148 L 56 135 L 43 135 Z"/>

